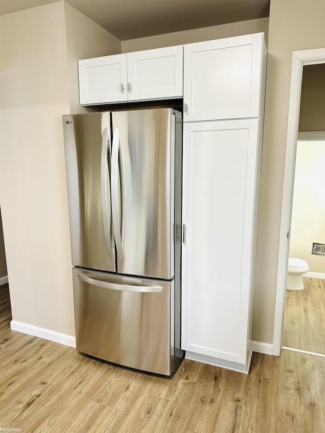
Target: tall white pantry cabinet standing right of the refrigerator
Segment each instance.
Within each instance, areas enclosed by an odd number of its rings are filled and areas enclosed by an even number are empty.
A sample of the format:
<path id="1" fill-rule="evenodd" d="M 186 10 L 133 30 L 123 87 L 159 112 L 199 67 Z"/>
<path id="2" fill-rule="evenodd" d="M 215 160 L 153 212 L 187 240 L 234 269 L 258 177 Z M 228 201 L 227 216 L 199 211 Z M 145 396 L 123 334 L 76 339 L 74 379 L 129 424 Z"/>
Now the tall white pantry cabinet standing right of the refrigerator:
<path id="1" fill-rule="evenodd" d="M 184 46 L 182 349 L 248 372 L 264 34 Z"/>

